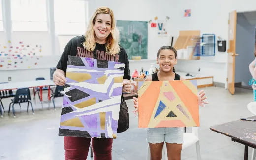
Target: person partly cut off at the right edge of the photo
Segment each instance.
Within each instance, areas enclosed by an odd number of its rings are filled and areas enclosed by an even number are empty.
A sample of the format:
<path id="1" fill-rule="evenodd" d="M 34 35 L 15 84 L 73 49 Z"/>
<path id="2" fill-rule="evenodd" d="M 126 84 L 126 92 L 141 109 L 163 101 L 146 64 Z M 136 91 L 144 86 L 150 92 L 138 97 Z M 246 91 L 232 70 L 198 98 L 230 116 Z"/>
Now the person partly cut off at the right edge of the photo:
<path id="1" fill-rule="evenodd" d="M 251 80 L 249 81 L 249 85 L 253 88 L 253 94 L 254 94 L 254 101 L 256 101 L 256 43 L 255 43 L 255 50 L 254 50 L 254 56 L 255 59 L 249 64 L 249 71 L 252 75 Z"/>

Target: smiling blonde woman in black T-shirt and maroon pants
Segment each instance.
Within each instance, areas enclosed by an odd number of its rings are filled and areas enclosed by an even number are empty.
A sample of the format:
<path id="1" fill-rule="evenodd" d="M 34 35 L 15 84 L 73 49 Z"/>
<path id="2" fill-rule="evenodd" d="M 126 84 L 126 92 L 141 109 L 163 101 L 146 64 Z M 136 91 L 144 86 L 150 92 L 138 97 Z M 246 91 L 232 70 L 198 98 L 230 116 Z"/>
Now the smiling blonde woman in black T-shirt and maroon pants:
<path id="1" fill-rule="evenodd" d="M 57 64 L 53 75 L 56 85 L 64 85 L 67 56 L 79 56 L 111 60 L 125 63 L 123 92 L 130 90 L 130 71 L 128 56 L 119 46 L 119 32 L 116 28 L 113 11 L 108 7 L 98 8 L 92 16 L 87 32 L 71 39 Z M 65 160 L 85 160 L 88 155 L 91 138 L 64 137 Z M 113 139 L 92 138 L 94 160 L 111 160 Z"/>

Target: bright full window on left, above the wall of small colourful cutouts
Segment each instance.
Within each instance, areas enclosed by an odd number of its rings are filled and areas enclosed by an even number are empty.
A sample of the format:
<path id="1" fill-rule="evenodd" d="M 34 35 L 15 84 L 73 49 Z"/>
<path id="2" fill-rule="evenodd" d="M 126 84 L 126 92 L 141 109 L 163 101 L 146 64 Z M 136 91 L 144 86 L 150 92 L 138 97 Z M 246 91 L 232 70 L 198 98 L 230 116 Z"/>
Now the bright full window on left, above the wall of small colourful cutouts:
<path id="1" fill-rule="evenodd" d="M 47 31 L 46 0 L 11 0 L 12 31 Z"/>

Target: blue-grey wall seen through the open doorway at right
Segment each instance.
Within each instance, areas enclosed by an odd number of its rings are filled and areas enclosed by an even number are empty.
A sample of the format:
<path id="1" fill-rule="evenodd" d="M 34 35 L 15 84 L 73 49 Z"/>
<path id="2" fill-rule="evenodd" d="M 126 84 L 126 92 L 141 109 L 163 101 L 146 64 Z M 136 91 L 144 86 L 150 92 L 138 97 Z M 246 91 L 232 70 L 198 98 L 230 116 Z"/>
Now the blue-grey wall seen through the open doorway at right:
<path id="1" fill-rule="evenodd" d="M 245 17 L 247 13 L 237 14 L 236 27 L 236 65 L 235 82 L 248 86 L 248 81 L 252 78 L 248 65 L 254 59 L 255 45 L 255 24 Z M 256 12 L 254 13 L 256 16 Z"/>

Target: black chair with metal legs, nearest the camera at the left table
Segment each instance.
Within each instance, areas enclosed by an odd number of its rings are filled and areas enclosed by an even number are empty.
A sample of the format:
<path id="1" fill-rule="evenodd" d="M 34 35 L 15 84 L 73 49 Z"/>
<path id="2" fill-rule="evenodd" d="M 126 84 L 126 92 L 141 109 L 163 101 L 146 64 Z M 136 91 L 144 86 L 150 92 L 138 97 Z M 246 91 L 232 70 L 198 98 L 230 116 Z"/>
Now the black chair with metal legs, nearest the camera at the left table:
<path id="1" fill-rule="evenodd" d="M 30 90 L 29 90 L 29 88 L 20 88 L 20 89 L 18 89 L 16 91 L 14 99 L 11 99 L 12 102 L 9 105 L 8 114 L 10 113 L 10 109 L 11 109 L 11 105 L 12 105 L 12 113 L 13 113 L 13 116 L 15 118 L 16 116 L 15 116 L 14 104 L 19 104 L 20 107 L 21 107 L 20 103 L 24 103 L 24 102 L 28 103 L 27 112 L 29 111 L 29 103 L 30 103 L 31 104 L 31 108 L 32 108 L 32 112 L 34 114 L 34 109 L 33 109 L 33 106 L 32 106 L 32 103 L 31 103 L 30 100 L 31 100 L 31 98 L 30 98 Z"/>

